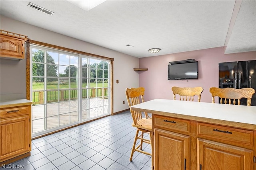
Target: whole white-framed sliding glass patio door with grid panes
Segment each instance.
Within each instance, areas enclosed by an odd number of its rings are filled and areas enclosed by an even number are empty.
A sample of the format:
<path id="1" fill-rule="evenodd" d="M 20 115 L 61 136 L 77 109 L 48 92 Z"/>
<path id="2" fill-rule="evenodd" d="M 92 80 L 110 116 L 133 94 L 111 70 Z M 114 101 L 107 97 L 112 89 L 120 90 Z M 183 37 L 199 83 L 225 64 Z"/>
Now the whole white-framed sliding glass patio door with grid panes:
<path id="1" fill-rule="evenodd" d="M 32 136 L 110 114 L 110 61 L 31 45 Z"/>

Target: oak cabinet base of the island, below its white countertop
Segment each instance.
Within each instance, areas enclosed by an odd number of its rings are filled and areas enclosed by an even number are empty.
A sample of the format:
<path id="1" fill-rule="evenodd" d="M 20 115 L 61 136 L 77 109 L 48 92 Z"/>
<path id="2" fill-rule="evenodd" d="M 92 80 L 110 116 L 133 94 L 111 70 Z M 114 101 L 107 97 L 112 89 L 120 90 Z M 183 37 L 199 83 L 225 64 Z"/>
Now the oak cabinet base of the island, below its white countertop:
<path id="1" fill-rule="evenodd" d="M 154 170 L 255 170 L 256 130 L 153 114 Z"/>

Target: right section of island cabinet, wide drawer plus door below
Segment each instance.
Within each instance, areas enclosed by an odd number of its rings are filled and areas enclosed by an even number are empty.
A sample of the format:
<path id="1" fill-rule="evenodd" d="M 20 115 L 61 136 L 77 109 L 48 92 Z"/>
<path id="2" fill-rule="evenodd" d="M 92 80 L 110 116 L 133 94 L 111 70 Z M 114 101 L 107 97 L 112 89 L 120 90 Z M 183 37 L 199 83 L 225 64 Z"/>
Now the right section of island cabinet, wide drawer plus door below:
<path id="1" fill-rule="evenodd" d="M 254 131 L 198 122 L 197 156 L 201 170 L 252 170 Z"/>

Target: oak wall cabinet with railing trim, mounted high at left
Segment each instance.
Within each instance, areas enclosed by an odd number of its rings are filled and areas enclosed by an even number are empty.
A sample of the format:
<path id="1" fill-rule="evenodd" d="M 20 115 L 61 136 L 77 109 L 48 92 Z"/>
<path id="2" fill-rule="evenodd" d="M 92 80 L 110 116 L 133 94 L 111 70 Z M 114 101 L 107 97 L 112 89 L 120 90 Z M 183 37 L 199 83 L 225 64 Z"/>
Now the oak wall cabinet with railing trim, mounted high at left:
<path id="1" fill-rule="evenodd" d="M 1 30 L 0 38 L 0 57 L 24 59 L 27 36 Z"/>

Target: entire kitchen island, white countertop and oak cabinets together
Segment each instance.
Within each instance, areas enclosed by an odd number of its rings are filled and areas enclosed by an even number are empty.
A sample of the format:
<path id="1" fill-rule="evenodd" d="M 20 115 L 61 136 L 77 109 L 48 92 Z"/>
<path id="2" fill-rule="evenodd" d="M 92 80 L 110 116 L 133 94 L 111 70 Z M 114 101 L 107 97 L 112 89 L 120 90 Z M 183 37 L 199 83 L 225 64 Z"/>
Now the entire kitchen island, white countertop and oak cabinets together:
<path id="1" fill-rule="evenodd" d="M 155 99 L 152 169 L 255 170 L 256 107 Z"/>

